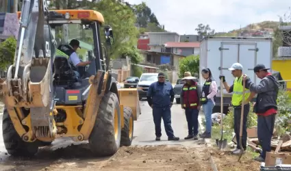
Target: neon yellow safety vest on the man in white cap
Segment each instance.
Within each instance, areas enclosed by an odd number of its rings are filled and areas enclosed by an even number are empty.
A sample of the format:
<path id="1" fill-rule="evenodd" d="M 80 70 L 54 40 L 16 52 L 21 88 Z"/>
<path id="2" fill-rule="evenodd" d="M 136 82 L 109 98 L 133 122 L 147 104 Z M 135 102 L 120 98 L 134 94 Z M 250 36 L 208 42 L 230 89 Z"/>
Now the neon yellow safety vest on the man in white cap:
<path id="1" fill-rule="evenodd" d="M 242 86 L 242 77 L 236 77 L 233 83 L 233 94 L 231 97 L 231 103 L 233 106 L 239 106 L 242 104 L 243 89 L 244 87 Z M 246 88 L 244 91 L 244 100 L 248 99 L 250 95 L 251 91 Z"/>

